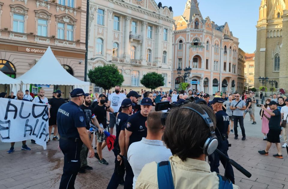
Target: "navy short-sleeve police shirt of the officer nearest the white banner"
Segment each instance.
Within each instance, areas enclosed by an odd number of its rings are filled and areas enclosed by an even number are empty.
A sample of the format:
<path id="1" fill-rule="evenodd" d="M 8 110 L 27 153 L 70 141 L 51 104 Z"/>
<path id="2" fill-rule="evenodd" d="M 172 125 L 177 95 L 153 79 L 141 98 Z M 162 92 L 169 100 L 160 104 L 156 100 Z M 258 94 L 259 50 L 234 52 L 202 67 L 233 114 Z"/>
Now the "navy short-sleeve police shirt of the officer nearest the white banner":
<path id="1" fill-rule="evenodd" d="M 72 101 L 62 104 L 57 112 L 57 127 L 60 137 L 80 138 L 77 128 L 86 127 L 83 110 Z"/>

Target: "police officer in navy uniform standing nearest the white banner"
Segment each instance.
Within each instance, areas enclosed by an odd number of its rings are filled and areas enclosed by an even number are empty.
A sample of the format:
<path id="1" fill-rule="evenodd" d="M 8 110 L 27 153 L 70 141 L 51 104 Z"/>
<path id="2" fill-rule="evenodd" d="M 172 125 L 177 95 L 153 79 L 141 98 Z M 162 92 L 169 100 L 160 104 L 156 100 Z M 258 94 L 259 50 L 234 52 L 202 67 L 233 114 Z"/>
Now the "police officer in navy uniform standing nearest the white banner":
<path id="1" fill-rule="evenodd" d="M 89 149 L 89 158 L 94 157 L 94 150 L 86 130 L 85 116 L 79 107 L 88 96 L 80 88 L 70 92 L 71 100 L 62 104 L 57 112 L 59 147 L 64 154 L 63 174 L 60 189 L 74 188 L 74 182 L 80 169 L 80 151 L 84 143 Z"/>

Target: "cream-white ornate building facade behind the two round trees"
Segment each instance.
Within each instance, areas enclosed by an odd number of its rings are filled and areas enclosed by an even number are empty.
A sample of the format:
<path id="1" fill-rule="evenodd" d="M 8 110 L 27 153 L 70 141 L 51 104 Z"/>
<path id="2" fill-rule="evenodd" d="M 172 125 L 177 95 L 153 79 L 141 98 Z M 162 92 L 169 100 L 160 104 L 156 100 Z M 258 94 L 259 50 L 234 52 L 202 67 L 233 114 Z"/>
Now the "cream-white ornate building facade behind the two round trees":
<path id="1" fill-rule="evenodd" d="M 161 88 L 171 88 L 172 7 L 154 0 L 92 0 L 89 11 L 87 70 L 115 64 L 125 79 L 121 89 L 137 92 L 146 89 L 143 75 L 157 72 L 164 77 Z M 94 92 L 101 89 L 94 86 Z"/>

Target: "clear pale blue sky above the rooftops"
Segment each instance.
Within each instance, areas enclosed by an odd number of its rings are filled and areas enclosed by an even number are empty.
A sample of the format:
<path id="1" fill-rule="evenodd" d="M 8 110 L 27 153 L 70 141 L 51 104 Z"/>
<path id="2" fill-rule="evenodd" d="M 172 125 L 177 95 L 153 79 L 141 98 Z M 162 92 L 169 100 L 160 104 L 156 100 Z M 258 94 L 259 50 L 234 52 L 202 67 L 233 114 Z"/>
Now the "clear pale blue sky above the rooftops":
<path id="1" fill-rule="evenodd" d="M 184 12 L 187 0 L 155 0 L 162 6 L 172 7 L 173 16 Z M 228 23 L 233 36 L 239 39 L 239 47 L 247 53 L 256 50 L 256 24 L 261 0 L 198 0 L 200 12 L 209 16 L 218 26 Z"/>

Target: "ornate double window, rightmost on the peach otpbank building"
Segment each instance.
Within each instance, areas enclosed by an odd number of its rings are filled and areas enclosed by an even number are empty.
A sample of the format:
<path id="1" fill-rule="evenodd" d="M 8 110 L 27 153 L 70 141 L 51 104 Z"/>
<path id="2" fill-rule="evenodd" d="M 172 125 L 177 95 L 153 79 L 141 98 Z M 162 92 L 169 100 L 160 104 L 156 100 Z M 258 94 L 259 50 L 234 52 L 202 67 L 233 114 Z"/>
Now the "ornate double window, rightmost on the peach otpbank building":
<path id="1" fill-rule="evenodd" d="M 55 15 L 58 39 L 75 41 L 76 19 L 67 14 Z M 59 33 L 60 32 L 60 33 Z"/>

